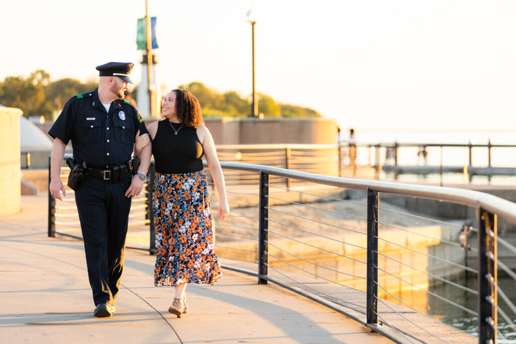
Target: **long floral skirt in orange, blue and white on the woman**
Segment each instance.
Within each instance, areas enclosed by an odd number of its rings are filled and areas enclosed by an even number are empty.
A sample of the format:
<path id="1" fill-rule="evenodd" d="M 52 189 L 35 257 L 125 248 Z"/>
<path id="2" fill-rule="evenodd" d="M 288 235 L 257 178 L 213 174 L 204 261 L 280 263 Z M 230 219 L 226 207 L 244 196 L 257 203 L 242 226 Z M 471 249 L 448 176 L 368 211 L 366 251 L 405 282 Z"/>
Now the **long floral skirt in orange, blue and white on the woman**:
<path id="1" fill-rule="evenodd" d="M 220 279 L 204 173 L 156 173 L 153 201 L 154 285 L 213 284 Z"/>

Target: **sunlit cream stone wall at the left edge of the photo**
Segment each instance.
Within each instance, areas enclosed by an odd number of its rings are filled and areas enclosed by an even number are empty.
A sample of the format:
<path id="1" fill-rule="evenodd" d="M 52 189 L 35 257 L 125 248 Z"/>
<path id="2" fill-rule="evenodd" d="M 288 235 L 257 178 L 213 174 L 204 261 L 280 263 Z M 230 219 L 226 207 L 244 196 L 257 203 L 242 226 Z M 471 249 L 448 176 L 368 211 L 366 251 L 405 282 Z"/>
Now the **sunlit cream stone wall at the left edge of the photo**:
<path id="1" fill-rule="evenodd" d="M 0 107 L 0 216 L 21 210 L 20 109 Z"/>

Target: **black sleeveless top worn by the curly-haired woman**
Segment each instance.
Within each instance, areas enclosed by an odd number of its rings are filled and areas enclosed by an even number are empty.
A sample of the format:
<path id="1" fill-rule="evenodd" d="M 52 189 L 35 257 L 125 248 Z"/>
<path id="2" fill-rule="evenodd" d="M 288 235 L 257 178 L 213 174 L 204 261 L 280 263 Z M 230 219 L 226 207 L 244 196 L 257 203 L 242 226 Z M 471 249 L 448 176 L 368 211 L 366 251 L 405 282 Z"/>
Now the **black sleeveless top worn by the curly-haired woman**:
<path id="1" fill-rule="evenodd" d="M 172 125 L 178 130 L 178 135 L 175 135 Z M 204 151 L 196 130 L 180 123 L 170 123 L 168 119 L 158 122 L 152 140 L 156 172 L 175 174 L 202 171 Z"/>

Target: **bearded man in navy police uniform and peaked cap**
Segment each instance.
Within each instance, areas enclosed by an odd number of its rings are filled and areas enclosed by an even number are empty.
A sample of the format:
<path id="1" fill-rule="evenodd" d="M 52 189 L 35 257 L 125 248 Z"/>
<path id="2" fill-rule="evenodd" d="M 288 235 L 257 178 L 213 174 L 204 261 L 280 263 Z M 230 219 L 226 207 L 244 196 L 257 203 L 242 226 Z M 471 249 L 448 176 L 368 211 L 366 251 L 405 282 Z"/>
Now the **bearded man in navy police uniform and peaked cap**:
<path id="1" fill-rule="evenodd" d="M 136 135 L 148 133 L 140 113 L 122 100 L 127 83 L 132 84 L 132 68 L 133 63 L 121 62 L 96 67 L 99 87 L 70 99 L 49 131 L 54 138 L 52 195 L 61 200 L 62 191 L 66 196 L 59 174 L 68 141 L 72 141 L 75 163 L 84 168 L 84 178 L 75 188 L 75 202 L 95 317 L 115 312 L 131 198 L 141 192 L 152 154 L 149 144 L 140 153 L 141 165 L 134 177 L 126 173 Z"/>

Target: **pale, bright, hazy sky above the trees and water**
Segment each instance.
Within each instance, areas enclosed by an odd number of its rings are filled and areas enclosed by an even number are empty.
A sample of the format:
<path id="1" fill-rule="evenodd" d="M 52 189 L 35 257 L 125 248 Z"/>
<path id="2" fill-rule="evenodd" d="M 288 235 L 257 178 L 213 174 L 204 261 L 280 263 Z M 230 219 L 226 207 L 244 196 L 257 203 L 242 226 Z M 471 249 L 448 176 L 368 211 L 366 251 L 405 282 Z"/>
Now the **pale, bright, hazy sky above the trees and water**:
<path id="1" fill-rule="evenodd" d="M 252 92 L 252 0 L 148 0 L 163 90 Z M 98 79 L 133 61 L 144 0 L 0 3 L 0 80 L 42 69 Z M 255 0 L 256 90 L 357 130 L 516 127 L 516 2 Z M 201 104 L 202 106 L 202 104 Z"/>

